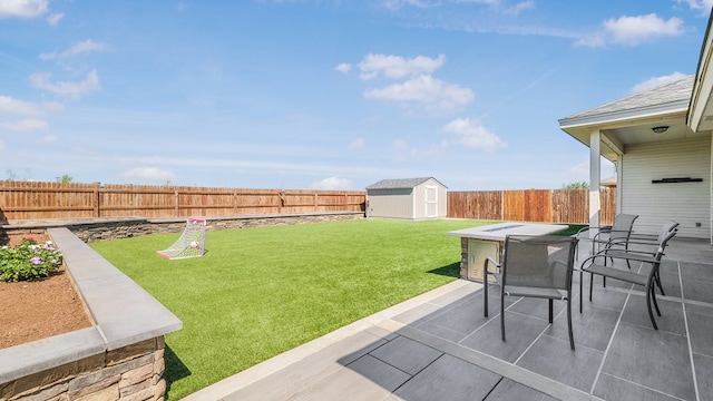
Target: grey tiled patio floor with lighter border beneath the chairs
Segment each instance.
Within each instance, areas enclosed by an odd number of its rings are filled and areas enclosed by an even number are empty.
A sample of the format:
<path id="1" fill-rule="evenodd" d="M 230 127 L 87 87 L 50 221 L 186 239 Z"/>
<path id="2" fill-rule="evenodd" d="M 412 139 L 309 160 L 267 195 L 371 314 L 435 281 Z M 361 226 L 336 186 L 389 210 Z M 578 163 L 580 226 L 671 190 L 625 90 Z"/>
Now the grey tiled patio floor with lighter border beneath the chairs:
<path id="1" fill-rule="evenodd" d="M 595 281 L 584 312 L 512 300 L 500 340 L 498 292 L 458 280 L 188 395 L 185 400 L 712 400 L 713 247 L 670 243 L 653 330 L 641 288 Z M 495 288 L 497 290 L 497 287 Z"/>

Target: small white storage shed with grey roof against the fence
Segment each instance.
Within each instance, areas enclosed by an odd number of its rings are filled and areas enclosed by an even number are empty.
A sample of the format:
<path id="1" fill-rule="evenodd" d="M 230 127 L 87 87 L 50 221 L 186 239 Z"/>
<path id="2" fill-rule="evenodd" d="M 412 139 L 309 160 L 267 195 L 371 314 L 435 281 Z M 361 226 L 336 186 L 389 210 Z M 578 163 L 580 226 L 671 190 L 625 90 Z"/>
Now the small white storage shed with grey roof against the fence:
<path id="1" fill-rule="evenodd" d="M 433 177 L 382 179 L 367 187 L 367 217 L 446 217 L 446 192 L 447 187 Z"/>

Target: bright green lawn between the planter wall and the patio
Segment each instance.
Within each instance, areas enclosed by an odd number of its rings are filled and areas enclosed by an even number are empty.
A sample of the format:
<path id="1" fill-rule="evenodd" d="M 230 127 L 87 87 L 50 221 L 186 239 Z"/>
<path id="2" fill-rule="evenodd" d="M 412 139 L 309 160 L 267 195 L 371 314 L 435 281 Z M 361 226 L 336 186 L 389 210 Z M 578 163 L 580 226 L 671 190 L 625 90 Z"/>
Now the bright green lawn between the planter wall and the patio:
<path id="1" fill-rule="evenodd" d="M 458 277 L 460 238 L 486 222 L 360 219 L 208 232 L 203 257 L 156 255 L 177 234 L 92 243 L 183 321 L 166 336 L 180 399 Z"/>

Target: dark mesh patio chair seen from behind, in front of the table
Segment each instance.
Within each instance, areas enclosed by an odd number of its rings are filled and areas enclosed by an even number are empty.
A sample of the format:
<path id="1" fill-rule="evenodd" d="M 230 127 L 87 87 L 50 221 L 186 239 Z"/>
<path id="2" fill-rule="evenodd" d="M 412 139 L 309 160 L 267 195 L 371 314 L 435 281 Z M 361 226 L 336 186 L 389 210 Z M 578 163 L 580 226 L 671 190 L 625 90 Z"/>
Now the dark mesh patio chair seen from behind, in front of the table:
<path id="1" fill-rule="evenodd" d="M 500 333 L 505 341 L 505 296 L 538 297 L 549 301 L 549 323 L 553 323 L 553 301 L 567 301 L 569 346 L 575 349 L 572 332 L 572 273 L 577 238 L 569 236 L 508 235 L 502 262 L 487 257 L 482 268 L 485 315 L 488 316 L 488 275 L 500 285 Z M 496 272 L 488 267 L 494 265 Z"/>

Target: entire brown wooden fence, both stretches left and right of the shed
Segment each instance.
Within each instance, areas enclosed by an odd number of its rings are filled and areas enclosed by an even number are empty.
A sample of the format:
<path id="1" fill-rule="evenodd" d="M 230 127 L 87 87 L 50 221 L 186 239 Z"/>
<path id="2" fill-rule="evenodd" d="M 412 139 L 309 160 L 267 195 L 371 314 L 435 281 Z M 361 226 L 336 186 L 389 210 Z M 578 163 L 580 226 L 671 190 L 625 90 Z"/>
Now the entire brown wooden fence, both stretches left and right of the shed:
<path id="1" fill-rule="evenodd" d="M 616 189 L 602 189 L 602 223 Z M 62 218 L 182 218 L 364 212 L 363 190 L 247 189 L 0 182 L 0 222 Z M 448 217 L 586 224 L 587 189 L 449 192 Z"/>

